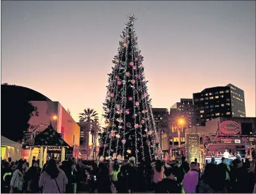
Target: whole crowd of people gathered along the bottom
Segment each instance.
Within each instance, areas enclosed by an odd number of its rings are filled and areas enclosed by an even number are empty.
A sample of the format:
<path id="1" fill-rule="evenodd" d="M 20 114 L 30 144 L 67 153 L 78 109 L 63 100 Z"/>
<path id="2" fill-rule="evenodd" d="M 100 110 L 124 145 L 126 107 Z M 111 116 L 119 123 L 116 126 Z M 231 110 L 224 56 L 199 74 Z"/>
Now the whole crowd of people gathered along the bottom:
<path id="1" fill-rule="evenodd" d="M 228 165 L 223 157 L 217 165 L 200 168 L 185 157 L 165 163 L 135 164 L 133 160 L 47 161 L 39 168 L 33 158 L 1 160 L 1 193 L 255 193 L 256 161 L 235 159 Z"/>

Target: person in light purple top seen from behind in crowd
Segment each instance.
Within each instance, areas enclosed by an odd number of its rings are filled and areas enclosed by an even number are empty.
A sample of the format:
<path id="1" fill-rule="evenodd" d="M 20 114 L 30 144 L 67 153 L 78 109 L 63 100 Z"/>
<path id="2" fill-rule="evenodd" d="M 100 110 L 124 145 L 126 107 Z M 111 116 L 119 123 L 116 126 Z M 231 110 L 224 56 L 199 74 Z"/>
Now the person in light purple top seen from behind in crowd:
<path id="1" fill-rule="evenodd" d="M 190 164 L 190 171 L 184 175 L 183 188 L 185 193 L 198 193 L 200 174 L 196 162 Z"/>

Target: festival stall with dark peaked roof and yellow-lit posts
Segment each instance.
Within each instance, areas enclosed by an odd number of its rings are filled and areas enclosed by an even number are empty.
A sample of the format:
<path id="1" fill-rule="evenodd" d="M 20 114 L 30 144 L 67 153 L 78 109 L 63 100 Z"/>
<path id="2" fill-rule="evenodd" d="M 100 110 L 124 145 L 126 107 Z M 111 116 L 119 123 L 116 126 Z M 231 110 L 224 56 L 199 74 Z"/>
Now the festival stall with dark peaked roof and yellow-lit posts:
<path id="1" fill-rule="evenodd" d="M 30 148 L 29 165 L 32 166 L 32 158 L 35 156 L 39 159 L 39 166 L 42 168 L 47 159 L 54 158 L 58 162 L 64 161 L 66 147 L 69 145 L 62 139 L 61 134 L 50 125 L 43 132 L 37 134 L 28 147 Z"/>

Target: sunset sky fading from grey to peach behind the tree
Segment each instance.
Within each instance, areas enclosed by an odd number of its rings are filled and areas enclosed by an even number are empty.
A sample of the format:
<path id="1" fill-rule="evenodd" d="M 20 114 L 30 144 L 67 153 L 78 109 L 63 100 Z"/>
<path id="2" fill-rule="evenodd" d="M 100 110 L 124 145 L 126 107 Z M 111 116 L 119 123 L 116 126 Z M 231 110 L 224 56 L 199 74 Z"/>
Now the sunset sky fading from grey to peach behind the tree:
<path id="1" fill-rule="evenodd" d="M 232 83 L 255 117 L 255 1 L 1 1 L 1 83 L 102 113 L 126 14 L 153 107 Z"/>

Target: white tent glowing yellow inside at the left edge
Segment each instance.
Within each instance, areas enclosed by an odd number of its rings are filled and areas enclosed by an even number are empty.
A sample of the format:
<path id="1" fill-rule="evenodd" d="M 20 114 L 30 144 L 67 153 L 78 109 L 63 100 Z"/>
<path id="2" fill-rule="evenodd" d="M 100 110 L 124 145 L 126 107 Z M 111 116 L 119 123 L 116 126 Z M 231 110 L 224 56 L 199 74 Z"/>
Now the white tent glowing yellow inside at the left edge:
<path id="1" fill-rule="evenodd" d="M 22 144 L 13 142 L 1 136 L 1 157 L 2 159 L 12 158 L 12 161 L 19 160 L 21 158 Z"/>

